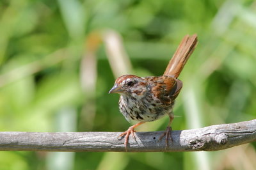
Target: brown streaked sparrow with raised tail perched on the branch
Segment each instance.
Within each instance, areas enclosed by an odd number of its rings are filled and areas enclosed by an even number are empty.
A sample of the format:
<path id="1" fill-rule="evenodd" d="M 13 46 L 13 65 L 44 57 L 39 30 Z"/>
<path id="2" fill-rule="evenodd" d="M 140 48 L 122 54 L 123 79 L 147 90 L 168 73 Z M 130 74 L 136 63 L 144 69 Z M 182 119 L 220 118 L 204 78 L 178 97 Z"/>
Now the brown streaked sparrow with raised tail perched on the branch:
<path id="1" fill-rule="evenodd" d="M 196 47 L 197 35 L 186 35 L 180 43 L 175 54 L 173 54 L 164 75 L 158 77 L 138 77 L 136 75 L 122 75 L 115 81 L 115 85 L 109 93 L 119 93 L 119 109 L 127 121 L 139 121 L 132 125 L 118 137 L 125 135 L 125 149 L 129 135 L 134 137 L 135 127 L 147 121 L 154 121 L 168 115 L 170 121 L 164 134 L 159 139 L 166 137 L 166 147 L 168 139 L 172 140 L 170 127 L 173 120 L 173 105 L 175 98 L 182 88 L 182 81 L 177 79 L 182 68 L 188 61 Z"/>

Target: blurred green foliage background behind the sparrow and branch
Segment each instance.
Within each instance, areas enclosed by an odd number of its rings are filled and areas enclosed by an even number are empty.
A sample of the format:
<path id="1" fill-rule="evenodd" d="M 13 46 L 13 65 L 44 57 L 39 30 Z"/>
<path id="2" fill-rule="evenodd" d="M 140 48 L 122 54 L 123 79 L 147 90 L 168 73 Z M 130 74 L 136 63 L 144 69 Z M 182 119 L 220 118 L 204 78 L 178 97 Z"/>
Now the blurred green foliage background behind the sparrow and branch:
<path id="1" fill-rule="evenodd" d="M 183 36 L 193 33 L 199 43 L 180 75 L 173 129 L 255 119 L 255 1 L 1 0 L 0 130 L 127 130 L 118 95 L 108 95 L 115 77 L 161 75 Z M 166 117 L 138 130 L 164 130 L 167 123 Z M 255 147 L 1 151 L 0 169 L 256 169 Z"/>

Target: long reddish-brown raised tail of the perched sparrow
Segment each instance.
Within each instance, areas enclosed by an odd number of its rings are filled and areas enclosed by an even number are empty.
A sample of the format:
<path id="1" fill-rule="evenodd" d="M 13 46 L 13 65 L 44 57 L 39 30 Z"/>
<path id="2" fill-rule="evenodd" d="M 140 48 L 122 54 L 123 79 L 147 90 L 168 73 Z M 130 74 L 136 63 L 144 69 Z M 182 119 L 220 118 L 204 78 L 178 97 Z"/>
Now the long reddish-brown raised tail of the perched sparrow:
<path id="1" fill-rule="evenodd" d="M 189 56 L 195 50 L 197 44 L 197 35 L 186 35 L 184 36 L 182 42 L 177 48 L 176 52 L 173 54 L 164 75 L 172 76 L 174 78 L 179 77 L 182 68 L 189 59 Z"/>

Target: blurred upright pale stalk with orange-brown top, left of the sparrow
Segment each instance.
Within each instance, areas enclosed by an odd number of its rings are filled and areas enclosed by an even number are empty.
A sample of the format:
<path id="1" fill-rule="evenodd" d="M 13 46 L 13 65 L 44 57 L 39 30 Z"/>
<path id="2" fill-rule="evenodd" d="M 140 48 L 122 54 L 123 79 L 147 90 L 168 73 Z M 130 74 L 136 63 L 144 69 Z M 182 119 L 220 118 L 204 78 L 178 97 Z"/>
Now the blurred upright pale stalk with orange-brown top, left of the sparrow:
<path id="1" fill-rule="evenodd" d="M 98 32 L 90 33 L 87 36 L 84 56 L 81 61 L 80 79 L 81 86 L 86 96 L 83 109 L 81 111 L 81 121 L 79 125 L 83 125 L 82 129 L 93 129 L 93 123 L 96 113 L 95 104 L 95 88 L 97 86 L 97 50 L 101 43 L 101 38 Z M 86 126 L 86 127 L 84 127 Z M 80 126 L 79 126 L 80 127 Z"/>

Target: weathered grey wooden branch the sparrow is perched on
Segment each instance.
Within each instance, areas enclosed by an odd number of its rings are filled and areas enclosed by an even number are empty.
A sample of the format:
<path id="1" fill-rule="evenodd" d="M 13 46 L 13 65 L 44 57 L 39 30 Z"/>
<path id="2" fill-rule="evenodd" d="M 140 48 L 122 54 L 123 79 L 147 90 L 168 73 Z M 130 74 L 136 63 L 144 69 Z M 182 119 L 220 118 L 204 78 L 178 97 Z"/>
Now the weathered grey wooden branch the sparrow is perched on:
<path id="1" fill-rule="evenodd" d="M 127 151 L 214 151 L 256 141 L 256 120 L 174 130 L 172 143 L 159 141 L 163 132 L 137 132 Z M 120 132 L 0 132 L 0 150 L 10 151 L 125 151 Z"/>

